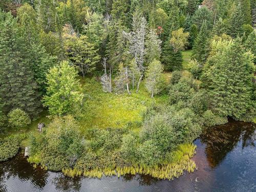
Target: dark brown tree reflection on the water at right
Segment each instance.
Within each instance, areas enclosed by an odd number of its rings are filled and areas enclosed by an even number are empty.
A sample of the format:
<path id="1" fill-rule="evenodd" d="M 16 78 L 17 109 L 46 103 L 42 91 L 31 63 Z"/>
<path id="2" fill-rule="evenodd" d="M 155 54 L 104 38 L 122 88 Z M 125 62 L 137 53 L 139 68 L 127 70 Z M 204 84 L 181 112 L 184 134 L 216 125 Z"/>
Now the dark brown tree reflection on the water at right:
<path id="1" fill-rule="evenodd" d="M 254 140 L 255 124 L 232 120 L 225 125 L 210 127 L 201 135 L 201 141 L 206 144 L 206 157 L 212 168 L 218 166 L 239 141 L 244 148 L 254 146 Z"/>

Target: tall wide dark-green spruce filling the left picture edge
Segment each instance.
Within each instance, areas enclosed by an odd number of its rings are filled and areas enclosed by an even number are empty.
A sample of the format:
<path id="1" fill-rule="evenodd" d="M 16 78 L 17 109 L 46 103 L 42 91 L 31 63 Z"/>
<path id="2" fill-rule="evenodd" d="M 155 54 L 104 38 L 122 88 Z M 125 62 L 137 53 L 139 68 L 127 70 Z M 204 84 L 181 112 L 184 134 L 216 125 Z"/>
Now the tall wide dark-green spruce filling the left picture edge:
<path id="1" fill-rule="evenodd" d="M 35 117 L 40 112 L 37 84 L 26 45 L 18 34 L 16 19 L 11 13 L 0 13 L 0 96 L 3 110 L 8 113 L 19 108 Z"/>

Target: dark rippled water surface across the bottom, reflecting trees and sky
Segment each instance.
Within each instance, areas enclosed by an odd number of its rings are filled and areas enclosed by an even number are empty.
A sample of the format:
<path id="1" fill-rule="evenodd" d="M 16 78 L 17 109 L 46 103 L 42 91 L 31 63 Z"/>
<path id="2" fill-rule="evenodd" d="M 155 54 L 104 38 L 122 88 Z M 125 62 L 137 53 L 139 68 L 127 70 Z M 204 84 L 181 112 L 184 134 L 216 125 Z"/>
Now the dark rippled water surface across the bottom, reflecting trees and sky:
<path id="1" fill-rule="evenodd" d="M 149 176 L 68 178 L 30 165 L 23 154 L 0 163 L 0 191 L 256 191 L 256 125 L 231 121 L 195 141 L 198 170 L 173 181 Z"/>

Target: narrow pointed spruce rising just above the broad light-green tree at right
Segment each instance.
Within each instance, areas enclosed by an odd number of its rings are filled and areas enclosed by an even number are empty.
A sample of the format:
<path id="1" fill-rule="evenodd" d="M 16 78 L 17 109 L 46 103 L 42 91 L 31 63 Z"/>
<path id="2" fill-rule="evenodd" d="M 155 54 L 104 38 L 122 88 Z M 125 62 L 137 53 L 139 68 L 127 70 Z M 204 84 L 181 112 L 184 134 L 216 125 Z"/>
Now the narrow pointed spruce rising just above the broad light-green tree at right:
<path id="1" fill-rule="evenodd" d="M 231 37 L 237 37 L 243 34 L 244 16 L 242 13 L 241 3 L 238 3 L 234 11 L 231 13 L 228 19 L 228 35 Z"/>

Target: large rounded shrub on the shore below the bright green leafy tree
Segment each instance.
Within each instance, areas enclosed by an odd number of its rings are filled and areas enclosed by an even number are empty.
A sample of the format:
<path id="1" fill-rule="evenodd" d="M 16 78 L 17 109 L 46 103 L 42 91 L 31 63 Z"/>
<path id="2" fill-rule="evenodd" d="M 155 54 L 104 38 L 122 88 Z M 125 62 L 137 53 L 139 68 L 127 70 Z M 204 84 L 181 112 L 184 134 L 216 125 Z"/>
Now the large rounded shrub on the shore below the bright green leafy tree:
<path id="1" fill-rule="evenodd" d="M 34 141 L 39 146 L 34 155 L 40 154 L 40 164 L 56 171 L 73 167 L 83 147 L 78 128 L 72 116 L 55 117 L 43 131 L 40 146 Z"/>

